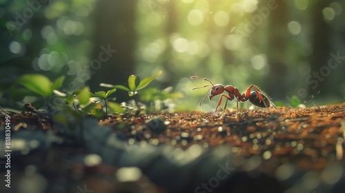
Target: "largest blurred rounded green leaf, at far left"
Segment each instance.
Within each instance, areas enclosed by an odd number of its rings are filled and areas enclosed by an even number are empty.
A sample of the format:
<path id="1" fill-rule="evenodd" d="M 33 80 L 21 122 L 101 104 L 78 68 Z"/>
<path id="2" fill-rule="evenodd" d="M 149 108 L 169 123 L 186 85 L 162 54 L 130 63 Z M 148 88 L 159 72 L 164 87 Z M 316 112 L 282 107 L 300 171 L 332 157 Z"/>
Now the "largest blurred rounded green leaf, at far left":
<path id="1" fill-rule="evenodd" d="M 47 96 L 52 94 L 52 83 L 42 74 L 26 74 L 17 79 L 17 83 L 28 88 L 32 92 Z"/>

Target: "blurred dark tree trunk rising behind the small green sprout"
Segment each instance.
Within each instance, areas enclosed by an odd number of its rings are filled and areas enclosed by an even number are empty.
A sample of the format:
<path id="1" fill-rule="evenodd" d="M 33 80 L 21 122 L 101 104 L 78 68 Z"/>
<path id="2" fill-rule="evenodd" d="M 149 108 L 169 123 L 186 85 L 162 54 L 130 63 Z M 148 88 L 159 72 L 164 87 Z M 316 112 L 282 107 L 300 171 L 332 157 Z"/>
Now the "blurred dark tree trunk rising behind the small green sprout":
<path id="1" fill-rule="evenodd" d="M 98 1 L 88 84 L 92 92 L 106 89 L 99 87 L 99 83 L 128 84 L 135 66 L 136 5 L 137 1 Z M 120 90 L 116 95 L 118 102 L 128 101 L 128 93 Z"/>

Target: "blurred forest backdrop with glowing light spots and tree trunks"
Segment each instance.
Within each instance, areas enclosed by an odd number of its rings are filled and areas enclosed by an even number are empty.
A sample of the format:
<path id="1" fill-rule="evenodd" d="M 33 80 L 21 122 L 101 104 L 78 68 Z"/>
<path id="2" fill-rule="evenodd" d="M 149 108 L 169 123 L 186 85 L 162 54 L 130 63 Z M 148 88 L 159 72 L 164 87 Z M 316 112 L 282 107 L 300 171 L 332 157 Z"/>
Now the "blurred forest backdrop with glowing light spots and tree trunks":
<path id="1" fill-rule="evenodd" d="M 66 74 L 64 89 L 126 84 L 179 92 L 195 110 L 207 82 L 258 85 L 274 102 L 345 101 L 345 1 L 326 0 L 1 0 L 0 81 Z M 77 83 L 70 85 L 70 83 Z M 73 90 L 72 90 L 73 88 Z M 117 101 L 128 101 L 116 92 Z M 1 99 L 1 103 L 7 103 Z M 201 110 L 212 111 L 213 103 Z M 235 103 L 231 103 L 235 105 Z M 248 107 L 244 105 L 244 107 Z"/>

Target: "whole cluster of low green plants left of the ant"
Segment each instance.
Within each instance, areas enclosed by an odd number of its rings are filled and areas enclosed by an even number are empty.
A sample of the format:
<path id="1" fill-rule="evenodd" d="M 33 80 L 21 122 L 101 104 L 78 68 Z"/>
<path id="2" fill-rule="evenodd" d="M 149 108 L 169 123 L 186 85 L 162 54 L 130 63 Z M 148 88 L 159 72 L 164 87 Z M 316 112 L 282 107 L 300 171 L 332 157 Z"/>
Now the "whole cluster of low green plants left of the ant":
<path id="1" fill-rule="evenodd" d="M 126 90 L 129 96 L 134 96 L 137 94 L 137 90 L 145 88 L 161 73 L 162 72 L 159 71 L 152 77 L 147 77 L 143 80 L 136 75 L 130 75 L 130 77 L 128 77 L 128 88 L 124 85 L 108 85 L 106 87 L 110 87 L 110 90 L 101 90 L 95 93 L 90 92 L 88 86 L 81 90 L 75 90 L 72 93 L 59 91 L 58 89 L 63 86 L 63 81 L 65 80 L 63 76 L 58 77 L 54 81 L 50 81 L 50 79 L 43 74 L 25 74 L 12 81 L 0 82 L 0 91 L 4 92 L 8 90 L 12 101 L 23 101 L 26 96 L 35 96 L 37 101 L 41 101 L 41 105 L 52 104 L 51 106 L 54 110 L 68 111 L 68 113 L 74 111 L 76 115 L 92 114 L 93 116 L 101 117 L 108 113 L 126 113 L 119 103 L 115 103 L 117 98 L 112 97 L 112 94 L 118 89 Z M 150 88 L 143 93 L 144 97 L 142 99 L 144 101 L 164 100 L 170 96 L 168 92 L 161 92 L 156 88 Z M 59 103 L 59 107 L 55 106 L 56 104 L 52 101 L 56 98 L 62 99 L 64 105 Z M 103 108 L 105 108 L 104 111 Z M 57 116 L 57 119 L 58 118 L 59 116 Z M 66 122 L 66 120 L 61 120 L 61 122 Z"/>

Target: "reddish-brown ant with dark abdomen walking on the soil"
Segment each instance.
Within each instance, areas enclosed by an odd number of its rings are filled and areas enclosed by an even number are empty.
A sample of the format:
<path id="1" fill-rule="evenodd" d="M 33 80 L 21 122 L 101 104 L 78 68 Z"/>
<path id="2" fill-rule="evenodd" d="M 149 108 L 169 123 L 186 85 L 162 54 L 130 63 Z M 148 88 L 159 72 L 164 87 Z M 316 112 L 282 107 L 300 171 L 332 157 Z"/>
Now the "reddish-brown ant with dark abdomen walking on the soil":
<path id="1" fill-rule="evenodd" d="M 208 92 L 211 90 L 210 92 L 210 100 L 214 97 L 217 96 L 219 94 L 221 94 L 220 99 L 218 101 L 217 107 L 215 109 L 215 113 L 217 112 L 218 107 L 221 105 L 221 100 L 223 99 L 223 97 L 225 97 L 226 103 L 224 106 L 224 110 L 226 109 L 226 105 L 229 101 L 233 101 L 235 98 L 237 99 L 237 103 L 236 103 L 236 116 L 235 118 L 237 119 L 237 114 L 238 114 L 238 103 L 239 102 L 245 102 L 245 101 L 250 101 L 250 103 L 252 103 L 255 106 L 258 106 L 260 108 L 267 108 L 268 112 L 270 112 L 270 110 L 268 109 L 271 105 L 278 110 L 278 108 L 272 103 L 270 102 L 270 98 L 267 96 L 267 94 L 265 92 L 263 92 L 262 90 L 260 90 L 259 88 L 257 88 L 257 86 L 255 85 L 250 85 L 246 92 L 244 94 L 239 93 L 239 90 L 237 88 L 235 88 L 233 85 L 226 85 L 224 87 L 224 85 L 221 84 L 215 84 L 213 85 L 213 83 L 206 79 L 206 78 L 200 78 L 200 77 L 190 77 L 190 79 L 199 79 L 201 81 L 208 81 L 210 83 L 210 85 L 203 85 L 200 87 L 195 87 L 192 90 L 196 90 L 199 88 L 206 88 L 206 87 L 210 87 L 208 89 L 208 91 L 206 92 L 206 94 L 204 96 L 202 96 L 201 101 L 199 103 L 199 106 L 201 107 L 201 103 L 202 101 L 204 101 L 206 95 L 208 94 Z M 254 89 L 254 91 L 251 92 L 252 88 Z M 223 92 L 228 92 L 228 95 L 226 94 L 222 94 Z"/>

